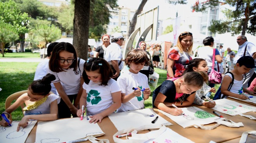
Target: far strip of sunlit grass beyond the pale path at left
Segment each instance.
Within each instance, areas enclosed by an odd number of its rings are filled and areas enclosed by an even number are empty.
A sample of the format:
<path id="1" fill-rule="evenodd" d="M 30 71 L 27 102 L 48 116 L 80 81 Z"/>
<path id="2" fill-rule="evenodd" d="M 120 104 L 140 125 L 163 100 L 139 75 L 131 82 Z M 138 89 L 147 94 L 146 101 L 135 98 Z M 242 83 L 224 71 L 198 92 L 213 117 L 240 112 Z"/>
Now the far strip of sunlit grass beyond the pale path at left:
<path id="1" fill-rule="evenodd" d="M 4 53 L 4 57 L 3 54 L 1 54 L 0 58 L 40 58 L 40 53 Z"/>

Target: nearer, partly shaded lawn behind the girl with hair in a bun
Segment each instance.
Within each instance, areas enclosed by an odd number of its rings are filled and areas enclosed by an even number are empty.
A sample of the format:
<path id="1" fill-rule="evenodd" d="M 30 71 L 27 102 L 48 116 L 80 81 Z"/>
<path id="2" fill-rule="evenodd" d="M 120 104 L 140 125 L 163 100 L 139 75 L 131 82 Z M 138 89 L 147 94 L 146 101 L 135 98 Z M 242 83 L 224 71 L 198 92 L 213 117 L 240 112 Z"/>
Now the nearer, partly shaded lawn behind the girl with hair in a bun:
<path id="1" fill-rule="evenodd" d="M 27 90 L 28 85 L 33 81 L 36 66 L 34 62 L 0 62 L 0 112 L 5 111 L 5 99 L 18 91 Z M 22 112 L 19 107 L 12 112 L 12 119 L 21 120 Z"/>

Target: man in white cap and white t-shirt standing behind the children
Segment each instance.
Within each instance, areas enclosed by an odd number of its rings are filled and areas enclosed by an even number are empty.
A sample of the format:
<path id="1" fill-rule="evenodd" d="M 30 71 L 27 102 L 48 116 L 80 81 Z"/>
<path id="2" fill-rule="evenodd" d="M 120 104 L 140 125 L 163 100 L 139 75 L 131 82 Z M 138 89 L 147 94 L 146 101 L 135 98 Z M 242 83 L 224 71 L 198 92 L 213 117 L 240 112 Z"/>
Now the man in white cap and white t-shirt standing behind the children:
<path id="1" fill-rule="evenodd" d="M 113 79 L 117 80 L 120 71 L 123 69 L 123 62 L 121 61 L 123 55 L 121 46 L 123 45 L 125 37 L 121 33 L 114 33 L 111 36 L 111 44 L 104 51 L 104 59 L 110 63 L 113 70 Z"/>

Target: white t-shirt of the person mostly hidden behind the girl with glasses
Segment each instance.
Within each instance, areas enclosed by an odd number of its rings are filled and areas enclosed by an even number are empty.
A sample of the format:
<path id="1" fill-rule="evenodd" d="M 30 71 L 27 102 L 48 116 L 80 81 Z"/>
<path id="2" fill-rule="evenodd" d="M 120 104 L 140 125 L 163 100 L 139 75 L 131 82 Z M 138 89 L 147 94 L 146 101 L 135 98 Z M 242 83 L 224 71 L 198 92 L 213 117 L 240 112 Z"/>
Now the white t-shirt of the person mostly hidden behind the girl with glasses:
<path id="1" fill-rule="evenodd" d="M 49 67 L 49 60 L 50 59 L 45 58 L 43 59 L 43 61 L 41 61 L 37 65 L 34 80 L 42 80 L 42 78 L 47 74 L 47 68 Z M 53 83 L 51 83 L 51 86 L 52 86 L 51 92 L 53 92 L 54 94 L 57 94 L 57 91 Z"/>

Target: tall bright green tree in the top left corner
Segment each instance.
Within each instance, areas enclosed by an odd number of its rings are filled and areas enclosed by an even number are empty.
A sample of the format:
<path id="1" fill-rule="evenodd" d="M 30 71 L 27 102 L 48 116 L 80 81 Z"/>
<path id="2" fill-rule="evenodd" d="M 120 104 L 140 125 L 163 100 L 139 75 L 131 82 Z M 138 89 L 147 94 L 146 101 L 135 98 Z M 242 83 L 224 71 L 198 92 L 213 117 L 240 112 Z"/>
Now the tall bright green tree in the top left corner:
<path id="1" fill-rule="evenodd" d="M 6 2 L 0 2 L 0 20 L 2 22 L 11 24 L 17 29 L 19 33 L 19 41 L 21 43 L 21 51 L 24 51 L 24 39 L 25 33 L 28 32 L 27 24 L 29 21 L 27 13 L 21 13 L 17 4 L 10 0 Z"/>

